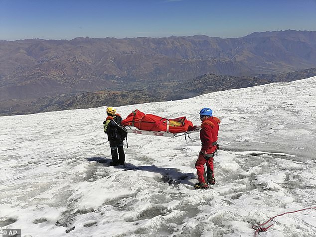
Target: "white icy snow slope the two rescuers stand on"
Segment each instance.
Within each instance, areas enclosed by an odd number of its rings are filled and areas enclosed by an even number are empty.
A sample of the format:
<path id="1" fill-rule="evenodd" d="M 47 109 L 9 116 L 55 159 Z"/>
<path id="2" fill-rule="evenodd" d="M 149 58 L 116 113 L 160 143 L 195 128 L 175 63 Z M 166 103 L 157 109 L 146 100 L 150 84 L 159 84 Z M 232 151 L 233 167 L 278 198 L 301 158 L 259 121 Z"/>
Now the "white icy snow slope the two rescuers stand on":
<path id="1" fill-rule="evenodd" d="M 128 134 L 126 163 L 113 167 L 103 132 L 110 105 L 1 117 L 0 229 L 32 237 L 253 237 L 253 225 L 295 212 L 260 236 L 314 237 L 315 87 L 312 77 L 117 108 L 123 118 L 139 109 L 200 125 L 198 112 L 210 107 L 221 123 L 209 190 L 193 188 L 198 132 L 187 141 Z"/>

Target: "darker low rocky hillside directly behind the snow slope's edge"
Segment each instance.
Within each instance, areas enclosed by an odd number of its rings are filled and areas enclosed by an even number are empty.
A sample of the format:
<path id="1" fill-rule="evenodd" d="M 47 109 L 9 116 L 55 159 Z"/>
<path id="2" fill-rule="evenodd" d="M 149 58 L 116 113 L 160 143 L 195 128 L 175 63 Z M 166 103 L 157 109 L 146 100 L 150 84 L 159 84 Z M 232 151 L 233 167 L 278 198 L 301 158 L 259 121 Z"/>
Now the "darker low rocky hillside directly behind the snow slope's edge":
<path id="1" fill-rule="evenodd" d="M 123 106 L 148 102 L 180 100 L 198 95 L 263 85 L 272 82 L 290 82 L 316 76 L 316 68 L 278 75 L 258 75 L 256 77 L 233 77 L 205 74 L 185 82 L 145 85 L 143 90 L 97 91 L 78 95 L 65 94 L 58 97 L 42 97 L 27 101 L 27 105 L 4 104 L 0 115 L 29 114 L 69 109 L 83 109 L 101 106 Z"/>

